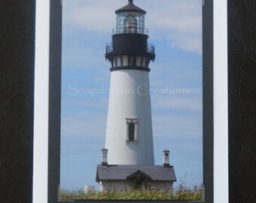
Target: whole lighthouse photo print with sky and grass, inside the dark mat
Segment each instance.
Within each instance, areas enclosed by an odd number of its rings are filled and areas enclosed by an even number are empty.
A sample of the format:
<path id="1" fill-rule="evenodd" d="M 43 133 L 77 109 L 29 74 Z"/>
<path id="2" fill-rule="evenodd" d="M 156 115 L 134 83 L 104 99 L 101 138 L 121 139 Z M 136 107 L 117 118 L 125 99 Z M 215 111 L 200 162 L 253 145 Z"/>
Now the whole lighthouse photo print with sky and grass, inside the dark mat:
<path id="1" fill-rule="evenodd" d="M 62 1 L 60 200 L 204 199 L 202 0 Z"/>

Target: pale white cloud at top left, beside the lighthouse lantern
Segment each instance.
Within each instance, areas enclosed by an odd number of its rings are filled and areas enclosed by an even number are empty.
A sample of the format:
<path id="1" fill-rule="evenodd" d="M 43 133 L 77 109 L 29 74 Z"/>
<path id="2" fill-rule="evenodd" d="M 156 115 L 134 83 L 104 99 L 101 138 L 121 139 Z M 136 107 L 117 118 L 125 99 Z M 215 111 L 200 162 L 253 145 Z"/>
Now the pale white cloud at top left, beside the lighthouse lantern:
<path id="1" fill-rule="evenodd" d="M 121 5 L 120 0 L 66 1 L 63 3 L 63 22 L 66 26 L 90 32 L 111 33 L 115 25 L 114 9 Z"/>

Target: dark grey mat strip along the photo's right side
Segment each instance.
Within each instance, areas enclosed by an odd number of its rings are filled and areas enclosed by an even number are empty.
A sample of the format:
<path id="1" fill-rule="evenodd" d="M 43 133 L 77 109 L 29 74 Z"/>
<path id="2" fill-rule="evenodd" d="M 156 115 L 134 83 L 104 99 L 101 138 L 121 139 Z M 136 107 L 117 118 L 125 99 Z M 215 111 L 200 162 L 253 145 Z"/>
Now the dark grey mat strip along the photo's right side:
<path id="1" fill-rule="evenodd" d="M 213 50 L 213 0 L 209 0 L 203 5 L 203 183 L 207 203 L 214 202 Z"/>

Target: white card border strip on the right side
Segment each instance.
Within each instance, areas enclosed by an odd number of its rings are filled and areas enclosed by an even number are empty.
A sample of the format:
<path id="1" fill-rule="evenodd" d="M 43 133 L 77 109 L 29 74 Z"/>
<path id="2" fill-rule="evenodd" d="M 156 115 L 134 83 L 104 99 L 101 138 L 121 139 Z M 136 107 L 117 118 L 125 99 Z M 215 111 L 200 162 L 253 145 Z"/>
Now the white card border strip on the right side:
<path id="1" fill-rule="evenodd" d="M 206 0 L 207 1 L 207 0 Z M 214 1 L 214 202 L 228 202 L 227 0 Z"/>

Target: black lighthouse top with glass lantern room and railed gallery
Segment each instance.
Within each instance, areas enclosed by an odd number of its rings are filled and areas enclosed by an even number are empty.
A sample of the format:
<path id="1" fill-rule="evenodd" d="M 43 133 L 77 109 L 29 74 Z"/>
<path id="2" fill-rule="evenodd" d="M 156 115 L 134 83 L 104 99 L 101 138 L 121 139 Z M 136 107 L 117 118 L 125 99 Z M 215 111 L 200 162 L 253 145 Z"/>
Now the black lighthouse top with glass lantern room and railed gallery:
<path id="1" fill-rule="evenodd" d="M 115 14 L 117 25 L 105 53 L 105 59 L 111 62 L 110 71 L 126 68 L 150 71 L 149 62 L 154 61 L 156 55 L 154 44 L 148 44 L 146 11 L 129 0 L 128 5 L 115 11 Z"/>

